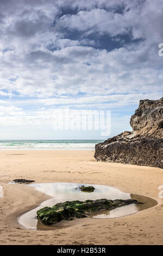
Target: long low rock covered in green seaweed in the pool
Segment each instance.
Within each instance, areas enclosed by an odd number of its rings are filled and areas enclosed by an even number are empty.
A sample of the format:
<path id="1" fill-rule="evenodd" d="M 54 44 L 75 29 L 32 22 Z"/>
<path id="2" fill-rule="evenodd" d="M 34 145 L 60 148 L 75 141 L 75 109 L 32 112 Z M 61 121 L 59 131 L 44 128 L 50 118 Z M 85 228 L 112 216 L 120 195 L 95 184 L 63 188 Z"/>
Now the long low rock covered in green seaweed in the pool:
<path id="1" fill-rule="evenodd" d="M 136 200 L 86 200 L 86 201 L 66 201 L 64 203 L 58 203 L 53 207 L 44 207 L 37 211 L 37 219 L 43 224 L 52 225 L 60 222 L 62 219 L 72 221 L 74 217 L 85 218 L 90 213 L 100 210 L 111 210 L 116 207 L 129 205 L 129 204 L 141 204 Z"/>

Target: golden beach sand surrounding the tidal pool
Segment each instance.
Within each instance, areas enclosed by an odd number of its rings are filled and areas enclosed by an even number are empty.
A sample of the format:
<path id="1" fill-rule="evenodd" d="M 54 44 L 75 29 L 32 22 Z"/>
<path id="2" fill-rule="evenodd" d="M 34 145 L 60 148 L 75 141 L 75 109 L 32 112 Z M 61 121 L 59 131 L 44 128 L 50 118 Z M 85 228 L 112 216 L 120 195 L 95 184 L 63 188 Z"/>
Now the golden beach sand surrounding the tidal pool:
<path id="1" fill-rule="evenodd" d="M 0 151 L 0 245 L 163 245 L 163 170 L 147 166 L 96 162 L 93 151 Z M 8 184 L 15 178 L 42 182 L 105 184 L 123 192 L 145 195 L 158 205 L 115 219 L 85 218 L 57 230 L 27 230 L 17 216 L 47 196 L 35 189 Z"/>

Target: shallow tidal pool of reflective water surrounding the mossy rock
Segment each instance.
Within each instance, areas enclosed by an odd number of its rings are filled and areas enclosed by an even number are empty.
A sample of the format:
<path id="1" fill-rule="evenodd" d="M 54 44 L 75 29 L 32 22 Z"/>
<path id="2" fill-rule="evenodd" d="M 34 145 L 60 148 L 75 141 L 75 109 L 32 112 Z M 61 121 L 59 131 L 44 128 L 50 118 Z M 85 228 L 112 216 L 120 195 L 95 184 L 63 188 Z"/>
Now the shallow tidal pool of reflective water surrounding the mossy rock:
<path id="1" fill-rule="evenodd" d="M 79 187 L 84 186 L 93 186 L 95 188 L 94 192 L 86 193 L 82 192 Z M 43 203 L 36 207 L 33 210 L 30 210 L 18 218 L 18 223 L 21 224 L 24 228 L 27 229 L 54 229 L 60 228 L 61 224 L 54 224 L 52 226 L 43 225 L 40 221 L 37 221 L 36 212 L 37 210 L 49 206 L 52 207 L 57 203 L 62 203 L 64 201 L 80 200 L 85 201 L 87 199 L 96 200 L 96 199 L 136 199 L 139 201 L 140 205 L 130 204 L 122 207 L 118 207 L 110 211 L 98 211 L 90 215 L 92 218 L 117 218 L 123 217 L 126 215 L 131 215 L 141 210 L 148 209 L 157 204 L 152 198 L 144 197 L 141 195 L 124 193 L 120 189 L 97 185 L 97 184 L 79 184 L 79 183 L 33 183 L 26 186 L 34 187 L 36 190 L 43 192 L 49 196 L 51 199 L 43 201 Z M 73 224 L 75 221 L 61 221 L 64 225 Z"/>

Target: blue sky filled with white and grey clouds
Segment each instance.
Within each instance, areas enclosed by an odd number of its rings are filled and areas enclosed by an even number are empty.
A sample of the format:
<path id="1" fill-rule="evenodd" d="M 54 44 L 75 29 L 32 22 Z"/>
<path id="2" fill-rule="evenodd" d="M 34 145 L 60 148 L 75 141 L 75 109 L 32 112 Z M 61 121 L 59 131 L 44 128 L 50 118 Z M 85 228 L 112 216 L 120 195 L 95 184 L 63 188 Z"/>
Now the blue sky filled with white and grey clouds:
<path id="1" fill-rule="evenodd" d="M 0 139 L 106 139 L 163 95 L 162 0 L 1 0 Z M 111 133 L 57 130 L 64 108 Z"/>

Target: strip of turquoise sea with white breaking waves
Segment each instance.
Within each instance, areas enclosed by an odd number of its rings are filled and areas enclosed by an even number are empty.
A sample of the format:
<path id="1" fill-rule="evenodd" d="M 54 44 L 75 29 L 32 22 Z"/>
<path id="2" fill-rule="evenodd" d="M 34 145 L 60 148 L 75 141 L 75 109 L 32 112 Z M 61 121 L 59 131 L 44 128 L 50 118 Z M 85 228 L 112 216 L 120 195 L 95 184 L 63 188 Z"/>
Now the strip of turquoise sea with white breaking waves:
<path id="1" fill-rule="evenodd" d="M 103 140 L 0 140 L 0 150 L 95 150 Z"/>

